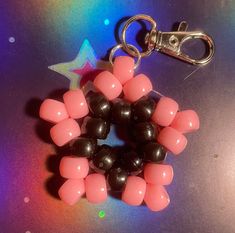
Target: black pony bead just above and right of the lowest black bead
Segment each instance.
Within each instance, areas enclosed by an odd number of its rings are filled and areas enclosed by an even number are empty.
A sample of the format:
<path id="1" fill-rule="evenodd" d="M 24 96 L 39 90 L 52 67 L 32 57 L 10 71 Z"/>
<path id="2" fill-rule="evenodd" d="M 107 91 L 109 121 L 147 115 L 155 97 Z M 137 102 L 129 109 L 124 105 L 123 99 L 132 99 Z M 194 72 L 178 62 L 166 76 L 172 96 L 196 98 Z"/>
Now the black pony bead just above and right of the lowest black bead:
<path id="1" fill-rule="evenodd" d="M 144 166 L 143 159 L 135 151 L 124 153 L 122 165 L 130 173 L 140 173 Z"/>

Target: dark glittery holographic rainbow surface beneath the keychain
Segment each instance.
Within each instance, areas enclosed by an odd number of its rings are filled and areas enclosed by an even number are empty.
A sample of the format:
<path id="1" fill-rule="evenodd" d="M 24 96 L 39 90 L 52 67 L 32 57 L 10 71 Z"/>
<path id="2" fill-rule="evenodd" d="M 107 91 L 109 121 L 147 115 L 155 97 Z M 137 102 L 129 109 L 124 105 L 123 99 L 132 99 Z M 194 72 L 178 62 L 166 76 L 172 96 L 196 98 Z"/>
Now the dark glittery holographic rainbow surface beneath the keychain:
<path id="1" fill-rule="evenodd" d="M 82 199 L 67 206 L 55 197 L 63 153 L 51 144 L 50 126 L 38 120 L 37 112 L 42 99 L 62 95 L 70 82 L 48 67 L 73 61 L 86 40 L 97 60 L 107 60 L 117 25 L 139 13 L 155 18 L 162 31 L 187 20 L 191 30 L 214 38 L 214 60 L 204 67 L 154 54 L 137 71 L 151 77 L 154 89 L 182 109 L 196 110 L 201 129 L 188 135 L 181 156 L 167 158 L 175 176 L 167 187 L 171 203 L 163 212 L 127 206 L 114 197 L 101 205 Z M 139 24 L 130 31 L 136 29 Z M 0 233 L 235 232 L 234 39 L 231 0 L 1 1 Z M 81 67 L 67 68 L 77 70 L 72 75 L 76 83 Z M 114 133 L 107 142 L 121 143 Z"/>

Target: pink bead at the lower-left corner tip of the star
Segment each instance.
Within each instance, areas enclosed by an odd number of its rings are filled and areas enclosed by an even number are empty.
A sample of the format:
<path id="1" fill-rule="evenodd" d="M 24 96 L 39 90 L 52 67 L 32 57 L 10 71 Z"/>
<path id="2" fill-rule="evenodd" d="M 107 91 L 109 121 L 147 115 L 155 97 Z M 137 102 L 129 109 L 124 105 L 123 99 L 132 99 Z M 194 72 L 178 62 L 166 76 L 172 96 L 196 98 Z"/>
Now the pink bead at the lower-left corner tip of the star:
<path id="1" fill-rule="evenodd" d="M 85 193 L 83 179 L 69 179 L 60 187 L 58 194 L 62 201 L 68 205 L 76 204 Z"/>

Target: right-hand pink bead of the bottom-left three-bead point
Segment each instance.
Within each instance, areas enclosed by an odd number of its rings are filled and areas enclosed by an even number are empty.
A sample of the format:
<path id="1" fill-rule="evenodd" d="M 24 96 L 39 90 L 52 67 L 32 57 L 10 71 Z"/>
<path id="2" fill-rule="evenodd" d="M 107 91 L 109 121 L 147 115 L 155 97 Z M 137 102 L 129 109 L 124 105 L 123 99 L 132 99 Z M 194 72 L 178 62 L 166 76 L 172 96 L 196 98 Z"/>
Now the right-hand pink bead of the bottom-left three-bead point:
<path id="1" fill-rule="evenodd" d="M 86 198 L 89 202 L 98 204 L 107 199 L 107 186 L 105 176 L 102 174 L 90 174 L 85 179 Z"/>

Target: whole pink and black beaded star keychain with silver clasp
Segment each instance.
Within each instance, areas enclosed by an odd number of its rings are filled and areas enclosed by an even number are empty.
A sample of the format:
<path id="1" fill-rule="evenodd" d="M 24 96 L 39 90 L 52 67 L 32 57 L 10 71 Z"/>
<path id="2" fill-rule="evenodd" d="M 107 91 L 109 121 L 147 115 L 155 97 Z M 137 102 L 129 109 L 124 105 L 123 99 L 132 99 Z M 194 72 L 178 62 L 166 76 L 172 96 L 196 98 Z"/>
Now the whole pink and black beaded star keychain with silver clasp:
<path id="1" fill-rule="evenodd" d="M 152 25 L 146 35 L 147 50 L 142 53 L 126 43 L 126 31 L 136 20 Z M 199 129 L 199 117 L 193 110 L 179 110 L 172 98 L 151 97 L 150 79 L 144 74 L 134 75 L 134 69 L 154 49 L 192 64 L 209 62 L 214 53 L 212 39 L 202 32 L 186 32 L 186 28 L 182 22 L 178 31 L 163 33 L 150 16 L 130 18 L 122 32 L 122 44 L 110 53 L 112 72 L 98 74 L 90 91 L 68 90 L 63 103 L 44 100 L 40 117 L 54 124 L 50 130 L 53 142 L 71 148 L 59 166 L 61 176 L 67 179 L 58 191 L 61 200 L 74 205 L 85 194 L 89 202 L 101 203 L 108 191 L 113 191 L 121 192 L 121 199 L 129 205 L 144 202 L 152 211 L 168 206 L 170 198 L 164 186 L 172 182 L 173 168 L 165 163 L 167 152 L 178 155 L 185 149 L 185 134 Z M 208 45 L 206 58 L 196 60 L 181 52 L 182 44 L 194 38 Z M 116 57 L 113 62 L 120 48 L 130 56 Z M 133 57 L 137 57 L 136 64 Z M 111 124 L 127 131 L 128 146 L 100 145 Z"/>

